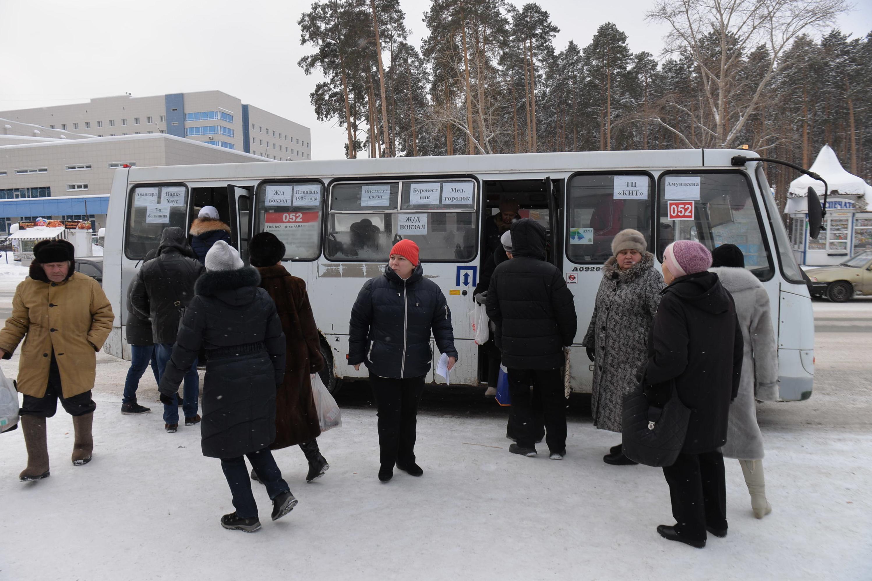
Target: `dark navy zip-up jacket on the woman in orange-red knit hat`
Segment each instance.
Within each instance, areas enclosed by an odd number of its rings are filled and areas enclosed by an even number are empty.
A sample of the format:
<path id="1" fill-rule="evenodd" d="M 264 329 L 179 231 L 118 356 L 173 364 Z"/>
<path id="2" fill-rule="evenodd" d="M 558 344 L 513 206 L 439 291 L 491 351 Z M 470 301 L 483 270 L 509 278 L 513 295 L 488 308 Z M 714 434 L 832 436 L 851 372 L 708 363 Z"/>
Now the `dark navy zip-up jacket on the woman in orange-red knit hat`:
<path id="1" fill-rule="evenodd" d="M 351 308 L 348 363 L 379 377 L 419 377 L 430 371 L 430 331 L 440 353 L 457 357 L 451 310 L 439 285 L 419 264 L 407 280 L 391 267 L 367 280 Z"/>

